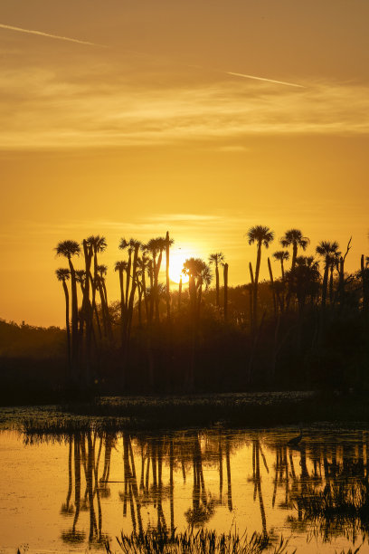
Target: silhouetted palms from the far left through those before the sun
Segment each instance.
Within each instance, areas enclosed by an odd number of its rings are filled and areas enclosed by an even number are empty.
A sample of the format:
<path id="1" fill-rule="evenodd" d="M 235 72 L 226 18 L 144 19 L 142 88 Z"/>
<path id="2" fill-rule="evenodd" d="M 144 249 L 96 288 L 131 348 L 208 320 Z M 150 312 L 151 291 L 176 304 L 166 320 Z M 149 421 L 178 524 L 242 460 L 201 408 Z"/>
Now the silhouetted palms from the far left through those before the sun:
<path id="1" fill-rule="evenodd" d="M 132 330 L 134 311 L 142 326 L 145 319 L 148 330 L 160 321 L 160 301 L 166 302 L 166 320 L 171 320 L 171 293 L 169 287 L 170 247 L 173 239 L 166 233 L 165 237 L 150 239 L 146 244 L 131 238 L 122 238 L 118 248 L 127 254 L 125 260 L 115 263 L 119 278 L 119 322 L 120 349 L 123 364 L 127 362 L 129 339 Z M 83 377 L 91 379 L 93 355 L 98 355 L 98 344 L 104 341 L 113 346 L 116 321 L 109 310 L 106 275 L 108 268 L 99 263 L 99 254 L 107 248 L 105 237 L 90 235 L 81 244 L 76 241 L 62 241 L 56 246 L 58 256 L 68 260 L 68 268 L 56 270 L 57 279 L 62 283 L 65 295 L 65 323 L 67 330 L 68 360 L 71 380 Z M 159 282 L 163 254 L 166 257 L 166 284 Z M 73 260 L 83 255 L 84 269 L 77 270 Z M 222 253 L 210 256 L 210 263 L 215 264 L 217 306 L 220 305 L 219 269 L 224 266 L 226 276 L 228 265 L 223 263 Z M 189 297 L 193 321 L 200 318 L 203 300 L 203 289 L 208 289 L 212 281 L 210 266 L 199 258 L 186 260 L 183 273 L 189 277 Z M 226 277 L 225 277 L 226 278 Z M 69 290 L 67 282 L 71 282 Z M 78 290 L 80 289 L 80 293 Z M 80 307 L 78 298 L 81 296 Z M 226 296 L 226 295 L 225 295 Z M 178 311 L 181 310 L 182 278 L 178 289 Z M 70 310 L 71 306 L 71 310 Z M 145 313 L 145 318 L 144 318 Z M 80 371 L 84 375 L 79 375 Z"/>

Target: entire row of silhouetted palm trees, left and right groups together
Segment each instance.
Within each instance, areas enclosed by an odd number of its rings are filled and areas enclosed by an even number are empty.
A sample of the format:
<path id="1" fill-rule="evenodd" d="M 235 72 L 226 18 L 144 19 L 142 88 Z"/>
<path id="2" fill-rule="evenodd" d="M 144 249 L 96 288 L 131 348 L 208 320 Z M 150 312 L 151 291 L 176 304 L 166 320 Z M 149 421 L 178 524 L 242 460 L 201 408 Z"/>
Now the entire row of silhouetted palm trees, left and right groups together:
<path id="1" fill-rule="evenodd" d="M 260 303 L 260 268 L 264 249 L 268 249 L 275 235 L 269 227 L 252 226 L 246 234 L 249 244 L 256 244 L 256 263 L 249 263 L 250 284 L 250 324 L 255 337 L 258 334 L 262 320 L 266 314 L 265 305 Z M 196 347 L 196 338 L 202 320 L 204 305 L 203 291 L 210 287 L 213 274 L 215 277 L 215 301 L 213 314 L 217 319 L 227 321 L 229 311 L 228 301 L 228 263 L 224 262 L 221 252 L 212 253 L 208 263 L 200 258 L 189 258 L 185 261 L 183 273 L 188 276 L 188 292 L 185 292 L 185 310 L 182 278 L 175 294 L 169 288 L 170 247 L 173 239 L 159 236 L 143 244 L 137 239 L 122 238 L 118 248 L 126 254 L 125 259 L 115 264 L 118 272 L 120 299 L 118 302 L 118 318 L 112 315 L 109 306 L 106 286 L 108 268 L 99 263 L 99 254 L 107 248 L 105 237 L 91 235 L 81 244 L 75 241 L 63 241 L 56 246 L 56 253 L 68 260 L 67 268 L 60 268 L 56 276 L 62 284 L 66 304 L 66 330 L 68 343 L 68 360 L 71 380 L 82 378 L 90 382 L 93 376 L 93 366 L 99 358 L 99 345 L 113 347 L 119 333 L 119 348 L 121 349 L 122 375 L 125 375 L 128 365 L 128 352 L 133 322 L 137 321 L 140 328 L 147 330 L 148 358 L 152 358 L 152 335 L 154 326 L 160 322 L 163 305 L 166 306 L 166 321 L 187 317 L 190 321 L 192 357 Z M 275 262 L 280 264 L 280 276 L 273 275 L 270 257 L 268 269 L 270 273 L 270 297 L 274 313 L 280 316 L 286 311 L 298 308 L 301 315 L 307 301 L 320 306 L 321 320 L 324 322 L 326 306 L 345 301 L 345 258 L 351 247 L 351 239 L 345 253 L 341 253 L 336 241 L 322 241 L 317 244 L 316 254 L 307 256 L 303 253 L 310 243 L 307 236 L 299 229 L 289 229 L 279 239 L 282 249 L 273 253 Z M 74 267 L 74 258 L 83 256 L 84 268 Z M 166 281 L 160 282 L 163 256 L 166 259 Z M 289 267 L 286 264 L 290 263 Z M 319 265 L 322 269 L 319 271 Z M 213 268 L 213 272 L 212 272 Z M 221 287 L 221 276 L 223 283 Z M 368 310 L 369 276 L 367 261 L 362 258 L 363 278 L 363 310 Z M 68 287 L 68 282 L 71 286 Z M 221 301 L 222 291 L 222 301 Z M 79 301 L 80 298 L 80 301 Z M 172 305 L 177 299 L 176 307 Z M 209 298 L 209 297 L 206 297 Z M 222 305 L 221 305 L 222 304 Z M 260 317 L 260 308 L 262 313 Z M 152 362 L 149 362 L 152 366 Z M 193 365 L 194 362 L 191 362 Z M 190 364 L 190 365 L 191 365 Z M 153 381 L 152 369 L 150 381 Z M 123 382 L 125 377 L 123 377 Z M 193 383 L 190 371 L 190 387 Z"/>

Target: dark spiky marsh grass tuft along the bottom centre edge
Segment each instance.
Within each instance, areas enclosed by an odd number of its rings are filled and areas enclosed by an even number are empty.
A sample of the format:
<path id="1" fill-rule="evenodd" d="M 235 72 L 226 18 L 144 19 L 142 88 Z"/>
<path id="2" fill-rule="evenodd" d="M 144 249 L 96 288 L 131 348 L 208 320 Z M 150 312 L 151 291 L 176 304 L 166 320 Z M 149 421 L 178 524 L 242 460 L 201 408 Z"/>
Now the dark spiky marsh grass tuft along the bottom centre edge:
<path id="1" fill-rule="evenodd" d="M 237 530 L 229 533 L 217 533 L 215 530 L 185 530 L 169 533 L 166 530 L 147 530 L 144 533 L 117 537 L 119 551 L 125 554 L 258 554 L 269 550 L 273 554 L 288 554 L 288 540 L 280 538 L 278 545 L 272 545 L 266 533 L 254 532 L 249 539 L 246 533 L 240 535 Z M 270 550 L 272 548 L 272 550 Z M 109 543 L 108 554 L 113 554 Z M 296 552 L 296 550 L 293 550 Z"/>

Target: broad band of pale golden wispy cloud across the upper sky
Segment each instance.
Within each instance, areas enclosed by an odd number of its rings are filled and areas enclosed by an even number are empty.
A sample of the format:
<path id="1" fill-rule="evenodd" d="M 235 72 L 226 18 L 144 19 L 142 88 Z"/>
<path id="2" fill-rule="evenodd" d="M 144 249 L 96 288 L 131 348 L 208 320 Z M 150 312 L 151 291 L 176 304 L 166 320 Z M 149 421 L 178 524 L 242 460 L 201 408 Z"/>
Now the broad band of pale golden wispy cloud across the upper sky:
<path id="1" fill-rule="evenodd" d="M 117 76 L 116 76 L 117 77 Z M 134 80 L 133 80 L 134 81 Z M 94 148 L 237 142 L 248 135 L 367 134 L 369 87 L 266 81 L 198 86 L 134 85 L 125 76 L 75 75 L 29 68 L 0 75 L 0 148 Z"/>

